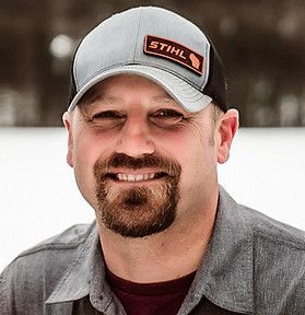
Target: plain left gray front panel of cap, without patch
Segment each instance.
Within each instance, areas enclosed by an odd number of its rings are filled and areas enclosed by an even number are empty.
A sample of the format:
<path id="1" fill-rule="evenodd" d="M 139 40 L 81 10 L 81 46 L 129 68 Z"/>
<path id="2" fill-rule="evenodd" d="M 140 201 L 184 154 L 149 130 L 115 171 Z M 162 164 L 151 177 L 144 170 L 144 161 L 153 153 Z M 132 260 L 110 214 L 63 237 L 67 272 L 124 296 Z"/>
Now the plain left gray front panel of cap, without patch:
<path id="1" fill-rule="evenodd" d="M 129 14 L 116 14 L 83 39 L 73 66 L 78 91 L 93 77 L 114 65 L 133 61 L 139 19 L 139 12 L 132 10 Z"/>

